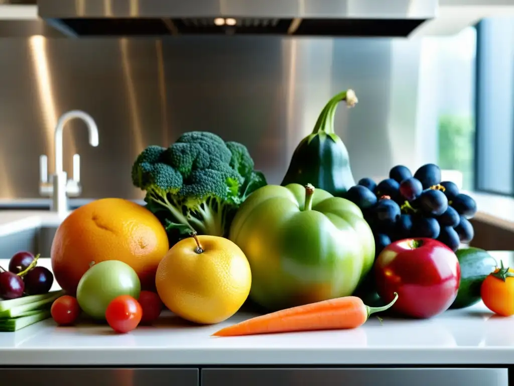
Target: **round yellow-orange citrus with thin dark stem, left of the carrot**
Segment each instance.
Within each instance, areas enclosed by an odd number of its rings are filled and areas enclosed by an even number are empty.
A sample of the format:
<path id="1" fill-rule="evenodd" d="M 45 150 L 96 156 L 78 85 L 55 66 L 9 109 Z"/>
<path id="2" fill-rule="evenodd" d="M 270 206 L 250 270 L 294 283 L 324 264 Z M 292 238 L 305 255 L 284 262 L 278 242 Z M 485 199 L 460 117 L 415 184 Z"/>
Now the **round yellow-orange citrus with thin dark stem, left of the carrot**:
<path id="1" fill-rule="evenodd" d="M 226 238 L 206 235 L 173 245 L 155 276 L 164 305 L 179 317 L 200 324 L 230 318 L 248 297 L 251 282 L 243 251 Z"/>

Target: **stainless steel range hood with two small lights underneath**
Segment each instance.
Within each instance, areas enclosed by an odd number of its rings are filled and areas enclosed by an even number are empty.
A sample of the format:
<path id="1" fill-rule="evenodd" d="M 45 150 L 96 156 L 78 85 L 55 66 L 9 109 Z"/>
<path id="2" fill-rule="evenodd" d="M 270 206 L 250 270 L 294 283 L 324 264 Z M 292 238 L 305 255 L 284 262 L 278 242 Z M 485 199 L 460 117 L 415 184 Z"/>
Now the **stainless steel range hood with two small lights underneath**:
<path id="1" fill-rule="evenodd" d="M 70 37 L 274 34 L 408 37 L 438 0 L 38 0 Z"/>

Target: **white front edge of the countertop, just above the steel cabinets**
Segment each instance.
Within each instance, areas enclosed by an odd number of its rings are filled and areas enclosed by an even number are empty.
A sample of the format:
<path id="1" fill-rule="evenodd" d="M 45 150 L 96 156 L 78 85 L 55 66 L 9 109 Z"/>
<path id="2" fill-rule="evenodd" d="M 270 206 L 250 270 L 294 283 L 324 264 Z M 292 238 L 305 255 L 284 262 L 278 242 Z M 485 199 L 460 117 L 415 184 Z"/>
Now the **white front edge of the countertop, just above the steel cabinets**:
<path id="1" fill-rule="evenodd" d="M 511 365 L 505 348 L 5 349 L 2 366 Z"/>

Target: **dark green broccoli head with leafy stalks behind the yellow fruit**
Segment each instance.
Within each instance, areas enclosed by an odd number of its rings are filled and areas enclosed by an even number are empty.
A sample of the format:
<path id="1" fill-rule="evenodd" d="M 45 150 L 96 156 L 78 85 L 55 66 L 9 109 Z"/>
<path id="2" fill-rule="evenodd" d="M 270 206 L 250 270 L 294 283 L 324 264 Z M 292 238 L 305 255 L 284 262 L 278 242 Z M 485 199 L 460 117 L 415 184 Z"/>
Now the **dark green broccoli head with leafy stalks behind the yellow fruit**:
<path id="1" fill-rule="evenodd" d="M 191 131 L 168 148 L 149 146 L 136 158 L 132 183 L 174 243 L 197 234 L 226 236 L 237 208 L 267 184 L 248 149 L 216 134 Z"/>

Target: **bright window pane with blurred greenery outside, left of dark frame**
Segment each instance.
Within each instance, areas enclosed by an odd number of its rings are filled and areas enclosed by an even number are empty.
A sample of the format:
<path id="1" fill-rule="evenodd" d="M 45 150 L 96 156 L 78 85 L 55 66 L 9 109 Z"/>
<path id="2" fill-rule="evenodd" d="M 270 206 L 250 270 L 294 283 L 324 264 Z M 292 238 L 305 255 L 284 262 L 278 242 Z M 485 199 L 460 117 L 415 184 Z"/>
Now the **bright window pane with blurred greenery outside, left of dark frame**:
<path id="1" fill-rule="evenodd" d="M 466 190 L 474 188 L 476 36 L 468 27 L 424 38 L 419 72 L 419 149 L 443 169 L 444 180 Z"/>

